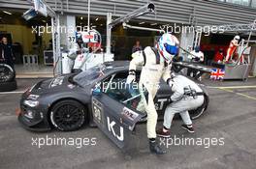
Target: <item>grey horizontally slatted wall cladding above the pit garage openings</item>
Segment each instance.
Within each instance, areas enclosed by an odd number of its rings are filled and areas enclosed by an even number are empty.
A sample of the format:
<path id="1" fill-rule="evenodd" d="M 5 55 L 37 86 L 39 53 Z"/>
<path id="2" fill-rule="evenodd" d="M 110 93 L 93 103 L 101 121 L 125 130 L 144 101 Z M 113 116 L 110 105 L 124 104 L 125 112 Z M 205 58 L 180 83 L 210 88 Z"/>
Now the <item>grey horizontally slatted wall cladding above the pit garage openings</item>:
<path id="1" fill-rule="evenodd" d="M 87 14 L 87 0 L 47 0 L 53 9 L 69 14 Z M 127 14 L 143 6 L 145 0 L 91 0 L 91 14 L 113 16 Z M 189 24 L 231 24 L 249 23 L 255 19 L 256 9 L 236 6 L 217 1 L 176 1 L 154 0 L 156 15 L 147 14 L 140 18 L 151 21 L 164 21 Z M 31 6 L 26 0 L 0 0 L 0 8 L 28 10 Z M 192 19 L 193 18 L 193 19 Z"/>

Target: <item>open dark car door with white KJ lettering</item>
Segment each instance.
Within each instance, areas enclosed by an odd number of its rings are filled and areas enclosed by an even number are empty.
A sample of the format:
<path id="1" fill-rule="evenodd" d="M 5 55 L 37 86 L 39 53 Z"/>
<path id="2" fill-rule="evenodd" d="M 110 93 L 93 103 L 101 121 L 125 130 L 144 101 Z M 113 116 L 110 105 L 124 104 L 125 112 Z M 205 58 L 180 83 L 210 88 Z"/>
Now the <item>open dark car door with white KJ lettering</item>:
<path id="1" fill-rule="evenodd" d="M 119 148 L 129 145 L 134 127 L 144 118 L 144 113 L 112 99 L 105 93 L 92 96 L 92 115 L 96 125 Z"/>

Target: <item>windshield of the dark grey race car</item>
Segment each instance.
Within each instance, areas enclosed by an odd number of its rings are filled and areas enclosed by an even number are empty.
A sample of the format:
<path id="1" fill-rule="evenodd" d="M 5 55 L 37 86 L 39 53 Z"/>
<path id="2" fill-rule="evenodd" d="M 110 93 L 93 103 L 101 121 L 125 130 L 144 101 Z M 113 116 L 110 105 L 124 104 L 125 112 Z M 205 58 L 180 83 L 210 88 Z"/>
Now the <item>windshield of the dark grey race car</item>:
<path id="1" fill-rule="evenodd" d="M 106 66 L 104 64 L 92 67 L 89 70 L 85 70 L 73 77 L 73 81 L 80 86 L 86 86 L 93 82 L 95 79 L 105 74 Z"/>

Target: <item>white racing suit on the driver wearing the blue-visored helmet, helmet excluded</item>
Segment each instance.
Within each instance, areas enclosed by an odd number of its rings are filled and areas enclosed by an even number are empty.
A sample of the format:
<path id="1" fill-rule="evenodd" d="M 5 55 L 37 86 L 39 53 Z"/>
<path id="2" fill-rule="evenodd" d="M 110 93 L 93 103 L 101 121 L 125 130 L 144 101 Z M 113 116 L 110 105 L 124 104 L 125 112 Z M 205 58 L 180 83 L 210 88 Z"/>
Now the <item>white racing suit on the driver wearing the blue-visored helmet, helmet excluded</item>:
<path id="1" fill-rule="evenodd" d="M 154 105 L 154 97 L 159 88 L 159 82 L 161 77 L 168 81 L 171 77 L 171 64 L 167 64 L 161 57 L 157 50 L 149 46 L 144 48 L 143 51 L 133 53 L 133 60 L 130 62 L 129 70 L 135 71 L 138 66 L 143 66 L 139 89 L 142 95 L 142 100 L 139 104 L 144 104 L 144 109 L 147 113 L 147 137 L 156 137 L 156 123 L 157 112 Z"/>

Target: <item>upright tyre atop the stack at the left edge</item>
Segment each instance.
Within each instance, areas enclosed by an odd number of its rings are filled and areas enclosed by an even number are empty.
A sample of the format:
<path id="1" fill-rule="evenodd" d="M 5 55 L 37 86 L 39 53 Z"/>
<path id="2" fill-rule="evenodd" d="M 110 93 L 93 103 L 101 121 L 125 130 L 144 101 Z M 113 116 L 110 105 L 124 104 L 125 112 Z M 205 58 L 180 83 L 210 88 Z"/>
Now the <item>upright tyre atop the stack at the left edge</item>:
<path id="1" fill-rule="evenodd" d="M 13 81 L 16 76 L 15 70 L 9 65 L 0 64 L 0 82 Z"/>

